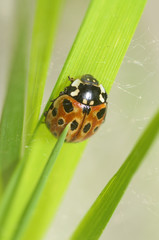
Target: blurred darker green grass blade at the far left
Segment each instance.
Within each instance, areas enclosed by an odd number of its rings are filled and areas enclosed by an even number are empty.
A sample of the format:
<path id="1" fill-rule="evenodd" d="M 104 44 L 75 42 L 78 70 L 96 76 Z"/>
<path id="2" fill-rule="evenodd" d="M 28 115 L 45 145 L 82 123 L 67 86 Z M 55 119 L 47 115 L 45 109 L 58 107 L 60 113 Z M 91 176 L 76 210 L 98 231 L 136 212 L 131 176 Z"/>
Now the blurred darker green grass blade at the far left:
<path id="1" fill-rule="evenodd" d="M 22 146 L 29 30 L 26 2 L 16 1 L 15 46 L 0 125 L 0 171 L 4 181 L 7 181 L 18 162 Z"/>

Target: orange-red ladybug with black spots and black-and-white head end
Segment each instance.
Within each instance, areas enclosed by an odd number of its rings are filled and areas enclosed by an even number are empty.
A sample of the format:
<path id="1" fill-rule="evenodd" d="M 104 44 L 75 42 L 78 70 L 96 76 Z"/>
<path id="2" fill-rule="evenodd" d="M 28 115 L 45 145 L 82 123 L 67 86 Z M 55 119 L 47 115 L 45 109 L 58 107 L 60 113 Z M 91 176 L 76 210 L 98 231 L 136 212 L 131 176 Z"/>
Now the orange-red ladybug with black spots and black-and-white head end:
<path id="1" fill-rule="evenodd" d="M 90 74 L 81 79 L 68 78 L 71 84 L 51 101 L 45 113 L 45 123 L 56 137 L 70 123 L 65 141 L 81 142 L 92 136 L 104 122 L 107 93 Z"/>

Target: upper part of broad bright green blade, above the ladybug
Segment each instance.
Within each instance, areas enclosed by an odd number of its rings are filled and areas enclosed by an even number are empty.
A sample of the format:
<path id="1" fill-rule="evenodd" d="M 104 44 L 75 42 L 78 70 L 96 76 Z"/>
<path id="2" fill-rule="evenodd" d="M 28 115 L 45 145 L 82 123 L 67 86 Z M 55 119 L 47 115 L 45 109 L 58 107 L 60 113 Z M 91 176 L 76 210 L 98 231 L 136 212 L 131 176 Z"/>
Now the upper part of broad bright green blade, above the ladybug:
<path id="1" fill-rule="evenodd" d="M 67 76 L 94 75 L 110 92 L 146 0 L 92 0 L 52 96 Z"/>

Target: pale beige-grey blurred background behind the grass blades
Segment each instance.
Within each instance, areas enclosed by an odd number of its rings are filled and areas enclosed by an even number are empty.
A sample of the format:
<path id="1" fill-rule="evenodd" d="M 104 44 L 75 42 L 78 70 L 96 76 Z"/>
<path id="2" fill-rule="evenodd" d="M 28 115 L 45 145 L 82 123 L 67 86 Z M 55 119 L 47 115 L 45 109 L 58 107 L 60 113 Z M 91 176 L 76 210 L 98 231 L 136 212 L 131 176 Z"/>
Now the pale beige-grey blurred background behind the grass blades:
<path id="1" fill-rule="evenodd" d="M 88 0 L 66 0 L 63 6 L 42 110 L 88 4 Z M 98 194 L 124 162 L 159 106 L 158 9 L 158 0 L 148 1 L 109 94 L 106 122 L 90 139 L 45 240 L 68 239 Z M 0 113 L 12 49 L 13 10 L 14 1 L 0 3 Z M 100 239 L 158 240 L 158 224 L 159 138 L 132 179 Z"/>

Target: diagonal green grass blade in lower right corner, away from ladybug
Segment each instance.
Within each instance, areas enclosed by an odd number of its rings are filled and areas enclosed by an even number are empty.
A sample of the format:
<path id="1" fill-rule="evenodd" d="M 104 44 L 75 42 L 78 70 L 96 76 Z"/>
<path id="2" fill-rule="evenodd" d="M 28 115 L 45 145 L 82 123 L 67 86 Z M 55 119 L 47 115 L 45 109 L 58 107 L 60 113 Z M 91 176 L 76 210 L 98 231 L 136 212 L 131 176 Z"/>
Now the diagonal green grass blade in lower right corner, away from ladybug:
<path id="1" fill-rule="evenodd" d="M 117 173 L 108 182 L 90 210 L 81 221 L 72 240 L 99 239 L 115 208 L 123 196 L 131 178 L 159 132 L 159 111 L 138 140 Z"/>

